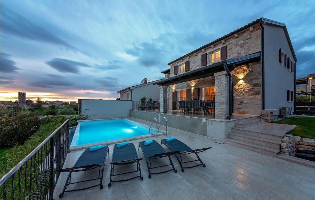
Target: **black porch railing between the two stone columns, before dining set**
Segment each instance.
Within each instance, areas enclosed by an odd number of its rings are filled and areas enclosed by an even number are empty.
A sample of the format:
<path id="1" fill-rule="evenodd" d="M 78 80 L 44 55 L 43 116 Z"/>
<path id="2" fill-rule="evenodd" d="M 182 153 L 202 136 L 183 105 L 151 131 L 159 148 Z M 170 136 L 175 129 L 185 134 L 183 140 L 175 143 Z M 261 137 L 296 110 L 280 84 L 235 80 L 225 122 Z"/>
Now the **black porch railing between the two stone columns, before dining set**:
<path id="1" fill-rule="evenodd" d="M 215 95 L 198 96 L 187 100 L 186 97 L 165 99 L 164 108 L 168 113 L 190 113 L 213 115 L 215 117 Z"/>

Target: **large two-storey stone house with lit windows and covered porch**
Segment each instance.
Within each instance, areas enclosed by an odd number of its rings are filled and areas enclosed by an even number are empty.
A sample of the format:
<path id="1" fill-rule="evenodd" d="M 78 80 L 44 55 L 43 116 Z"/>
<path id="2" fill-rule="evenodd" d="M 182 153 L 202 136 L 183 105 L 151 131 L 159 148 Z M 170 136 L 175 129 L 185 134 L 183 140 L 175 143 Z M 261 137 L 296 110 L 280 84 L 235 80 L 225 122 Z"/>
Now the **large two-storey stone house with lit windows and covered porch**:
<path id="1" fill-rule="evenodd" d="M 278 116 L 282 107 L 294 108 L 296 61 L 285 24 L 256 19 L 169 62 L 166 79 L 154 83 L 160 112 L 203 100 L 214 104 L 217 119 L 266 109 Z"/>

